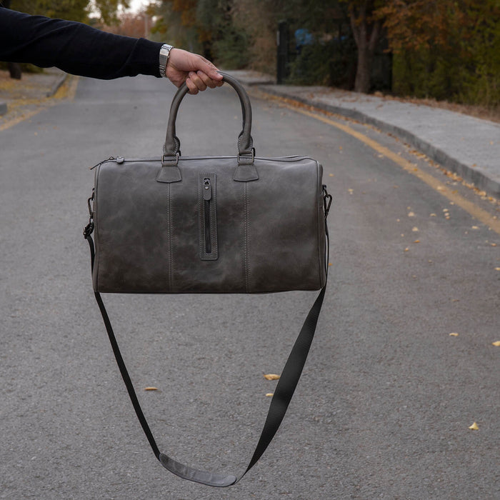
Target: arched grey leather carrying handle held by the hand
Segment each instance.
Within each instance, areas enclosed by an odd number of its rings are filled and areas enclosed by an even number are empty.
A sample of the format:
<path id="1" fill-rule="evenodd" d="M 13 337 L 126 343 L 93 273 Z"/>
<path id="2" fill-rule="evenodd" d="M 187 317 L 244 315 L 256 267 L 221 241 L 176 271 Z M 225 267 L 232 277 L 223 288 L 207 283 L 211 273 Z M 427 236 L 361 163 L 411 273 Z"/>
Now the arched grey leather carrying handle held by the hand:
<path id="1" fill-rule="evenodd" d="M 241 114 L 243 120 L 242 130 L 238 136 L 238 154 L 239 156 L 249 154 L 253 156 L 253 140 L 251 138 L 251 104 L 249 96 L 248 94 L 246 94 L 244 87 L 239 83 L 238 80 L 226 73 L 222 73 L 221 71 L 220 74 L 223 76 L 222 81 L 224 81 L 226 84 L 231 85 L 231 87 L 233 87 L 233 89 L 236 91 L 236 94 L 238 94 L 239 101 L 241 103 Z M 175 124 L 179 106 L 188 91 L 189 89 L 186 83 L 184 83 L 179 87 L 179 90 L 176 92 L 174 99 L 172 99 L 172 104 L 170 106 L 169 123 L 166 127 L 166 138 L 163 148 L 164 159 L 168 158 L 169 156 L 176 156 L 177 154 L 180 154 L 181 142 L 176 136 Z"/>

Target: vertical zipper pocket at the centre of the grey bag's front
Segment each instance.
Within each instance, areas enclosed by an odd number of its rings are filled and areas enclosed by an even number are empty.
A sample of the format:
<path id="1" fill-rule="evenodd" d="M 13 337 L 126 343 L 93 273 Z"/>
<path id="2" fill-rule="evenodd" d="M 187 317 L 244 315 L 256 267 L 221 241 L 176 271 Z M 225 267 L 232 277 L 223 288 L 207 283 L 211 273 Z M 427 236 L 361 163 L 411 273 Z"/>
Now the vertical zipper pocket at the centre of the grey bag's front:
<path id="1" fill-rule="evenodd" d="M 219 258 L 217 247 L 216 176 L 199 176 L 199 251 L 202 261 Z"/>

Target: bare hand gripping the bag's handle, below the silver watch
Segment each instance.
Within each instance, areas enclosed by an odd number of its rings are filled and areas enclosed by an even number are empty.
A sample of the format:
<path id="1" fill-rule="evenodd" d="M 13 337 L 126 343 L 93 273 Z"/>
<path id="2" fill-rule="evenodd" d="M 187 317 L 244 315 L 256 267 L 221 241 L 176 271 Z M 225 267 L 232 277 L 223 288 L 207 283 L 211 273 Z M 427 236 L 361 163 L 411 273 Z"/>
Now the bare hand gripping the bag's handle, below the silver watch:
<path id="1" fill-rule="evenodd" d="M 206 87 L 214 89 L 224 83 L 214 64 L 198 54 L 182 49 L 171 49 L 165 75 L 177 87 L 186 81 L 189 94 L 198 94 L 198 91 L 203 91 Z"/>

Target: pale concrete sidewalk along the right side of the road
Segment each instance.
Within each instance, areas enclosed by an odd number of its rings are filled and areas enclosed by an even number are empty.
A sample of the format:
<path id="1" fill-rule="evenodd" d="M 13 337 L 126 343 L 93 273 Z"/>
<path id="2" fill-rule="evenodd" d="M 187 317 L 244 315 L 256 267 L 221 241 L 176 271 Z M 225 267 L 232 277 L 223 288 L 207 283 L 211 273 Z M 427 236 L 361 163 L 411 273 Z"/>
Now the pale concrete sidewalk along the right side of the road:
<path id="1" fill-rule="evenodd" d="M 500 124 L 466 114 L 324 86 L 275 85 L 255 71 L 229 71 L 241 83 L 371 124 L 411 144 L 500 199 Z"/>

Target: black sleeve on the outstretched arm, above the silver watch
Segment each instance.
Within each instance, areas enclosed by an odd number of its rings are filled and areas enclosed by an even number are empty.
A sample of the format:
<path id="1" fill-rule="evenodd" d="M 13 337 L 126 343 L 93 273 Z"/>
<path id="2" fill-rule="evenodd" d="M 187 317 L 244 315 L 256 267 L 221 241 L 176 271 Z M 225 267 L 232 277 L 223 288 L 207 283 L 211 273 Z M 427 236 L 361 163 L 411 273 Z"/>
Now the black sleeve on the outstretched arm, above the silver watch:
<path id="1" fill-rule="evenodd" d="M 104 80 L 137 74 L 159 77 L 161 45 L 0 6 L 0 61 L 56 66 Z"/>

